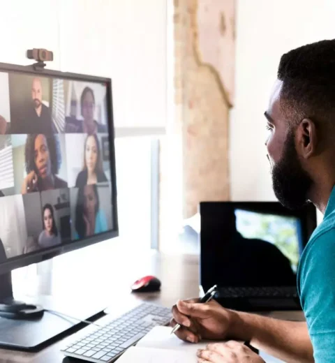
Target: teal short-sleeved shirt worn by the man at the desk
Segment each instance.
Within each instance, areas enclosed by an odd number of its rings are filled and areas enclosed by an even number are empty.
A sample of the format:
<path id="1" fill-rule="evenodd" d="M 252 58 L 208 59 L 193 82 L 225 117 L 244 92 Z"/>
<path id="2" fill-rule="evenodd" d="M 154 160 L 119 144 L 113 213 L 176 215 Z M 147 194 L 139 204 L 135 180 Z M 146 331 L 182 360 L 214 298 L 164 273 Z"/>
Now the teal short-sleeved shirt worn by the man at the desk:
<path id="1" fill-rule="evenodd" d="M 335 362 L 335 187 L 301 255 L 297 285 L 315 363 Z"/>

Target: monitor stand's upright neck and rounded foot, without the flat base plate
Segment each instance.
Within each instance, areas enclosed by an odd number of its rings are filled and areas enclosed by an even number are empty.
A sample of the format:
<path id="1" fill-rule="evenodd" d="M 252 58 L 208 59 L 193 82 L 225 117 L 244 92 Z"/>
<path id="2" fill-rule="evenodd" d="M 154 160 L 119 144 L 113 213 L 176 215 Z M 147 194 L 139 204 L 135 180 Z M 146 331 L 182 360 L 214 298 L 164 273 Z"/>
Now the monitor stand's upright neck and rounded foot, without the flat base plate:
<path id="1" fill-rule="evenodd" d="M 12 273 L 0 276 L 0 317 L 8 319 L 36 319 L 43 316 L 42 306 L 26 304 L 13 298 Z"/>

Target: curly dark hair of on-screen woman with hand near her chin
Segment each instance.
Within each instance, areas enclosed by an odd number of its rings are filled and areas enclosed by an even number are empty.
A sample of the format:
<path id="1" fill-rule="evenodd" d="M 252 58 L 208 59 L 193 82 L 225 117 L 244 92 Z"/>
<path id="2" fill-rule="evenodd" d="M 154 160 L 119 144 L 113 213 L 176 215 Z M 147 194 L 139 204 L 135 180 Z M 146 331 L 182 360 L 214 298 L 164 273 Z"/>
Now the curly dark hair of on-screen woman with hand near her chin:
<path id="1" fill-rule="evenodd" d="M 26 172 L 29 174 L 32 170 L 37 172 L 35 164 L 35 140 L 38 134 L 28 135 L 24 150 Z M 58 174 L 61 166 L 61 151 L 57 135 L 45 135 L 47 140 L 47 149 L 51 161 L 51 172 L 53 175 Z"/>

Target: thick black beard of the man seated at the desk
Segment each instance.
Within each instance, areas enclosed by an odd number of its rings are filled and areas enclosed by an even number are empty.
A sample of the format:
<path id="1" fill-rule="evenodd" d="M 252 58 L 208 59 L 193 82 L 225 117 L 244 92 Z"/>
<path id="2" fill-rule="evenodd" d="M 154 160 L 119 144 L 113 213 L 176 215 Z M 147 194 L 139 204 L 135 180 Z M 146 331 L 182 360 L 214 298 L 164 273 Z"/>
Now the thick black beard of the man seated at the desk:
<path id="1" fill-rule="evenodd" d="M 274 165 L 271 174 L 274 194 L 284 207 L 299 209 L 308 202 L 312 179 L 299 162 L 294 133 L 288 133 L 281 160 Z"/>

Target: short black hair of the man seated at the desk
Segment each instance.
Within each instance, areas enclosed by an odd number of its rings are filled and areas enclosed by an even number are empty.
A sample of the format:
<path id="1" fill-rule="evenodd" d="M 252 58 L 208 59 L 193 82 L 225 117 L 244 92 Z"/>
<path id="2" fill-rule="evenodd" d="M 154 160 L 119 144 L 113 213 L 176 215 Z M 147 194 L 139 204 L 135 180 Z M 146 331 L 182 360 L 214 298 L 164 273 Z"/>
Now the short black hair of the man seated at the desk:
<path id="1" fill-rule="evenodd" d="M 335 126 L 335 40 L 283 54 L 278 80 L 283 81 L 281 110 L 289 124 L 309 118 L 327 129 Z"/>

